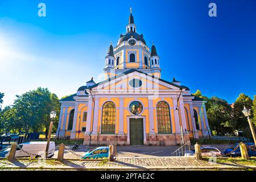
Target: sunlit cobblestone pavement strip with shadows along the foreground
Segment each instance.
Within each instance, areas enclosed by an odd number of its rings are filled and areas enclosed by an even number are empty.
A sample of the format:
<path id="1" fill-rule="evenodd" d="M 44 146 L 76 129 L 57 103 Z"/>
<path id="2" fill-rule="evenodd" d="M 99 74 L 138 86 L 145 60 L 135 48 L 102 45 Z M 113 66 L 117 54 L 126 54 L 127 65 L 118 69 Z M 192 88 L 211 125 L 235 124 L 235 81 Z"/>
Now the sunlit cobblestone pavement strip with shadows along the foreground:
<path id="1" fill-rule="evenodd" d="M 80 169 L 80 170 L 148 170 L 148 169 L 232 169 L 248 168 L 240 164 L 209 164 L 207 160 L 196 160 L 193 157 L 155 157 L 155 158 L 117 158 L 114 162 L 108 160 L 63 160 L 54 159 L 18 159 L 12 162 L 0 160 L 0 169 Z"/>

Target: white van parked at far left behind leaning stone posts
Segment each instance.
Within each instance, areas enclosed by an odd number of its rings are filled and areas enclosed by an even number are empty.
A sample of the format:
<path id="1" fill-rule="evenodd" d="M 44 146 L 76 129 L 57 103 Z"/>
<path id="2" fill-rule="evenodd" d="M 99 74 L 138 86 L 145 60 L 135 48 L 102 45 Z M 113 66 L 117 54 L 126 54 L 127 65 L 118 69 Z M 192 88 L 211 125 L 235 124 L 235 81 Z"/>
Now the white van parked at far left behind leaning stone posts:
<path id="1" fill-rule="evenodd" d="M 43 157 L 46 151 L 47 142 L 26 142 L 20 143 L 16 148 L 15 158 L 31 157 L 39 158 Z M 7 158 L 11 150 L 11 147 L 6 148 L 0 152 L 0 158 Z M 24 152 L 25 151 L 25 152 Z M 55 142 L 49 143 L 48 158 L 51 158 L 55 152 Z"/>

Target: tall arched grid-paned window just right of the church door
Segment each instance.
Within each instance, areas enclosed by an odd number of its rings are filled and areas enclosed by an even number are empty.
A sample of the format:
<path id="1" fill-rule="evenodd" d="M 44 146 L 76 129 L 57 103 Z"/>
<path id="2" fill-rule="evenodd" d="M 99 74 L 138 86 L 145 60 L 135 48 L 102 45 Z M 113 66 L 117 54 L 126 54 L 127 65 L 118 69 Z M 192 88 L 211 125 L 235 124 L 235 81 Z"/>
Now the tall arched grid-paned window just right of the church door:
<path id="1" fill-rule="evenodd" d="M 158 133 L 171 133 L 170 107 L 167 102 L 158 102 L 156 105 L 156 117 L 158 119 Z"/>

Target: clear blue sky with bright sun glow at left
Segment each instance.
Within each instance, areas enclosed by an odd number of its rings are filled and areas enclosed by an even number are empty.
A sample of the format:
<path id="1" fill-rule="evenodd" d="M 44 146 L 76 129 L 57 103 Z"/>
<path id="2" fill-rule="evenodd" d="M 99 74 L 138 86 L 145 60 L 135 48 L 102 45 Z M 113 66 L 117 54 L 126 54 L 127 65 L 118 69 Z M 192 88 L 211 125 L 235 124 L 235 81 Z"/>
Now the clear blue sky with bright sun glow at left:
<path id="1" fill-rule="evenodd" d="M 46 17 L 38 4 L 46 3 Z M 217 17 L 208 5 L 217 4 Z M 110 41 L 116 46 L 133 7 L 137 31 L 172 77 L 232 103 L 256 94 L 256 1 L 0 0 L 0 92 L 3 106 L 38 86 L 57 96 L 101 81 Z"/>

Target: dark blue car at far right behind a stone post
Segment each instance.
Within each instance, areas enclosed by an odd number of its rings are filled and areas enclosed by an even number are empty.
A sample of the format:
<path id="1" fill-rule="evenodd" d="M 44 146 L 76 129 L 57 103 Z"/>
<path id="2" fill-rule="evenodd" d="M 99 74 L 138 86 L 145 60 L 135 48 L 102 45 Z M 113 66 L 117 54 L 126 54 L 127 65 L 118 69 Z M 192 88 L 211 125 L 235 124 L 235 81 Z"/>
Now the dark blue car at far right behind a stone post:
<path id="1" fill-rule="evenodd" d="M 237 150 L 233 151 L 237 145 L 239 143 L 235 143 L 233 144 L 233 146 L 231 146 L 230 148 L 226 148 L 226 150 L 224 151 L 224 154 L 226 156 L 232 156 L 232 157 L 238 157 L 241 156 L 241 151 L 240 151 L 240 147 L 237 148 Z M 256 147 L 255 144 L 252 142 L 245 142 L 246 144 L 246 148 L 247 148 L 247 152 L 249 156 L 256 156 Z"/>

